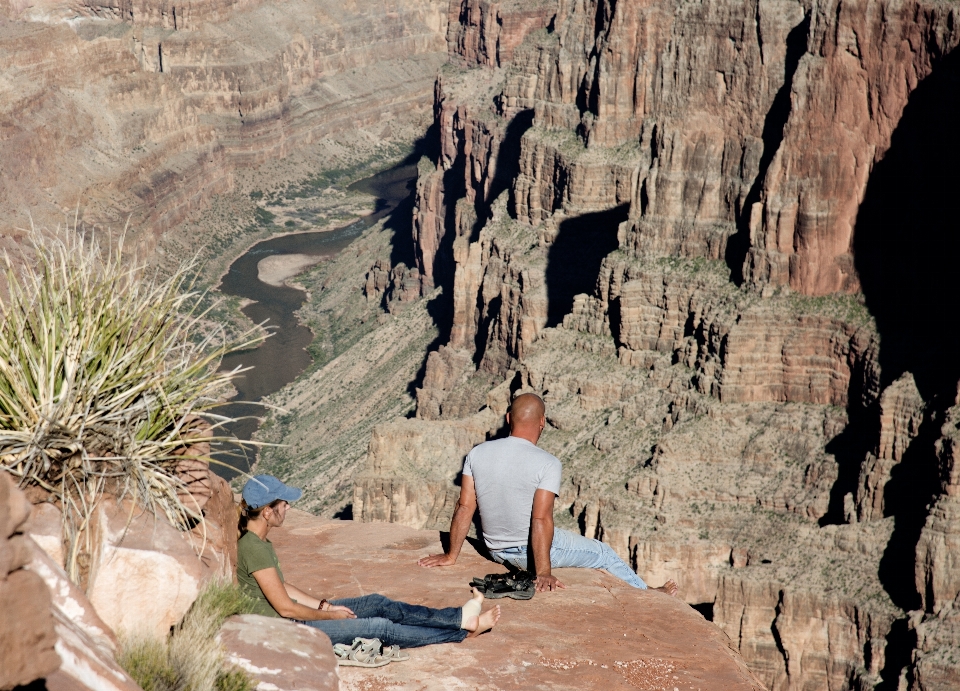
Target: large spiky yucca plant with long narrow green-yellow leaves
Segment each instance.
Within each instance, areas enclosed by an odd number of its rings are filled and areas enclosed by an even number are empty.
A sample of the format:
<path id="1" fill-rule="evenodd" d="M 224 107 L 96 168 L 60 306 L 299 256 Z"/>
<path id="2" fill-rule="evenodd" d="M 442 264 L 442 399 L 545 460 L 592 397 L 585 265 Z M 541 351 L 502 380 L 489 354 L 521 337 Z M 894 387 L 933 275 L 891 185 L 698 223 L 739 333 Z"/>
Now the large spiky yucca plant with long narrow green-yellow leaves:
<path id="1" fill-rule="evenodd" d="M 102 248 L 76 229 L 32 231 L 36 254 L 0 299 L 0 469 L 51 492 L 63 513 L 65 567 L 81 583 L 88 524 L 105 491 L 186 527 L 201 516 L 177 473 L 185 446 L 225 439 L 213 409 L 241 370 L 228 352 L 262 340 L 228 339 L 200 309 L 194 266 L 166 276 L 124 261 L 122 238 Z"/>

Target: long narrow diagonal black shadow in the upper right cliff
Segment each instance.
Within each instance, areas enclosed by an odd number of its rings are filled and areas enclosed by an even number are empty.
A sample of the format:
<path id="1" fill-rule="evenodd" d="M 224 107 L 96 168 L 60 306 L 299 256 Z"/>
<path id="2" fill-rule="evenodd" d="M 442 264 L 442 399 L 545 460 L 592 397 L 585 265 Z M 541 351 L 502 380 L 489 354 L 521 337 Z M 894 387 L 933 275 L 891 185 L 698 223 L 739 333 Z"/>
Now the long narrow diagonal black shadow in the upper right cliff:
<path id="1" fill-rule="evenodd" d="M 763 141 L 763 153 L 760 155 L 760 164 L 757 176 L 753 179 L 750 191 L 743 200 L 743 206 L 737 210 L 737 232 L 727 240 L 727 249 L 724 259 L 730 267 L 730 278 L 737 285 L 743 283 L 743 262 L 750 250 L 750 209 L 760 201 L 760 191 L 763 189 L 763 180 L 773 161 L 774 155 L 783 142 L 783 128 L 790 118 L 790 90 L 793 88 L 793 77 L 797 73 L 800 58 L 807 52 L 807 38 L 810 34 L 810 15 L 804 16 L 803 21 L 797 24 L 787 34 L 787 52 L 784 57 L 783 85 L 777 90 L 770 104 L 770 110 L 763 121 L 763 132 L 760 138 Z"/>

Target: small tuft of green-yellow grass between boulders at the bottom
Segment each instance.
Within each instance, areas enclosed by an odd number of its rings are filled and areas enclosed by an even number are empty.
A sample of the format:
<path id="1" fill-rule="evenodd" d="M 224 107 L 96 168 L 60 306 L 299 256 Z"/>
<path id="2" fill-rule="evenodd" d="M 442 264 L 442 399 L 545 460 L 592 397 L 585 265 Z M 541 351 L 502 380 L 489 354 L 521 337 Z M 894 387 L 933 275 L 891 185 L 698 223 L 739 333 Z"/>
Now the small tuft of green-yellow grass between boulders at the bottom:
<path id="1" fill-rule="evenodd" d="M 216 640 L 224 620 L 250 605 L 239 586 L 210 583 L 167 639 L 121 636 L 117 662 L 144 691 L 253 691 L 256 682 L 225 664 Z"/>

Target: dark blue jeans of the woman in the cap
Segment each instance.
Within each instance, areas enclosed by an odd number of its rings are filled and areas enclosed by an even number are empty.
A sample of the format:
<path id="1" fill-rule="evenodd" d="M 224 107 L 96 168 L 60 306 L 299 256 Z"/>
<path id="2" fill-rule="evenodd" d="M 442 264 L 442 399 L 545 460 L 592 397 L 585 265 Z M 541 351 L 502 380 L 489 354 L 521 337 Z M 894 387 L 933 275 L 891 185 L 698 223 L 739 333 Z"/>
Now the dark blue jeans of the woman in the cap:
<path id="1" fill-rule="evenodd" d="M 304 622 L 330 636 L 334 644 L 361 638 L 379 638 L 384 645 L 418 648 L 433 643 L 459 643 L 467 637 L 460 628 L 462 608 L 434 609 L 397 602 L 383 595 L 364 595 L 331 600 L 353 610 L 356 619 L 325 619 Z"/>

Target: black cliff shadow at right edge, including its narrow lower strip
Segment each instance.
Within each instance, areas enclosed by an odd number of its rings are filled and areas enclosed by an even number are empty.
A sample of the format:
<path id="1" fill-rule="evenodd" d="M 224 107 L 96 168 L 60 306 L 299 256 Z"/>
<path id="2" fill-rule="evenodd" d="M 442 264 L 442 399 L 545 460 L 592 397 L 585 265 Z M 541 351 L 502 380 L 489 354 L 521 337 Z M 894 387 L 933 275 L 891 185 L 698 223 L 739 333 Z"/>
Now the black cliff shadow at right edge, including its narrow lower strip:
<path id="1" fill-rule="evenodd" d="M 960 51 L 954 51 L 911 94 L 890 149 L 871 173 L 854 234 L 857 273 L 880 335 L 881 385 L 911 372 L 928 406 L 917 438 L 884 489 L 894 531 L 879 576 L 905 610 L 920 606 L 916 546 L 939 491 L 934 444 L 942 412 L 952 405 L 960 379 L 951 326 L 960 266 L 958 122 Z M 886 686 L 896 686 L 894 668 L 907 661 L 888 663 Z"/>

